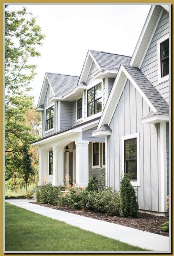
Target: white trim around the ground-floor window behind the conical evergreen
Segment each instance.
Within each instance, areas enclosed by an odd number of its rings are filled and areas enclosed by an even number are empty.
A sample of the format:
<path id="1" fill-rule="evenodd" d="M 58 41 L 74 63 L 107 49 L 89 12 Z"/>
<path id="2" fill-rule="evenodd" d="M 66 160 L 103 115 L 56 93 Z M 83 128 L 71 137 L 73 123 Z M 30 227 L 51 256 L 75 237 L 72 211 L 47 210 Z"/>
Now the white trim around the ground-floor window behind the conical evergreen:
<path id="1" fill-rule="evenodd" d="M 124 141 L 137 138 L 137 181 L 131 181 L 133 186 L 140 186 L 140 168 L 139 168 L 139 133 L 129 134 L 122 137 L 122 177 L 124 176 Z"/>

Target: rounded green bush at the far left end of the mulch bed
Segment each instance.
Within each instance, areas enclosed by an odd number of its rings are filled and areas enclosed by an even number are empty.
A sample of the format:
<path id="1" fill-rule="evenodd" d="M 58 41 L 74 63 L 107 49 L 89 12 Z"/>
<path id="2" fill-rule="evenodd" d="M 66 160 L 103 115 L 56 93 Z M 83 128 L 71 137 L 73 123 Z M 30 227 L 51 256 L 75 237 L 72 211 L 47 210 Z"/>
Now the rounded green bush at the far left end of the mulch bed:
<path id="1" fill-rule="evenodd" d="M 38 192 L 38 191 L 37 191 Z M 58 195 L 61 193 L 60 187 L 53 187 L 51 182 L 40 188 L 39 195 L 37 195 L 38 202 L 56 204 L 58 201 Z"/>

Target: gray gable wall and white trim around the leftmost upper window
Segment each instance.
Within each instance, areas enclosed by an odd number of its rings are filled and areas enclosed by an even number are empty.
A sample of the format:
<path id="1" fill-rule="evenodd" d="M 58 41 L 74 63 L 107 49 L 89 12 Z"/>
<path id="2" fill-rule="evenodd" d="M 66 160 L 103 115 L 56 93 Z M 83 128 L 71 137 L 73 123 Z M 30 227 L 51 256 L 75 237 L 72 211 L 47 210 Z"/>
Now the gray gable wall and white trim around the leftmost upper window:
<path id="1" fill-rule="evenodd" d="M 50 85 L 48 84 L 45 100 L 44 100 L 44 111 L 42 112 L 42 138 L 47 137 L 51 134 L 56 133 L 58 130 L 58 118 L 57 118 L 57 113 L 58 113 L 58 102 L 51 102 L 50 98 L 52 97 L 52 90 Z M 54 105 L 54 130 L 45 133 L 46 129 L 46 120 L 45 120 L 45 115 L 46 115 L 46 108 L 50 105 Z"/>

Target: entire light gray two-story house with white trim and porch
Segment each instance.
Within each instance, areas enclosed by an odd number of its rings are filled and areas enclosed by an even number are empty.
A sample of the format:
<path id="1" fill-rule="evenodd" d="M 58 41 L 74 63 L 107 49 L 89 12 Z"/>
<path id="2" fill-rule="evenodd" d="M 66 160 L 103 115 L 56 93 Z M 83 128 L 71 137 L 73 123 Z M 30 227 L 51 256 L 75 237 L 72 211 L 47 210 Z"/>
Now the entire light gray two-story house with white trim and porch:
<path id="1" fill-rule="evenodd" d="M 139 209 L 167 214 L 169 193 L 170 11 L 152 5 L 132 57 L 89 50 L 80 77 L 46 73 L 39 185 L 85 187 L 105 173 L 120 188 L 130 173 Z"/>

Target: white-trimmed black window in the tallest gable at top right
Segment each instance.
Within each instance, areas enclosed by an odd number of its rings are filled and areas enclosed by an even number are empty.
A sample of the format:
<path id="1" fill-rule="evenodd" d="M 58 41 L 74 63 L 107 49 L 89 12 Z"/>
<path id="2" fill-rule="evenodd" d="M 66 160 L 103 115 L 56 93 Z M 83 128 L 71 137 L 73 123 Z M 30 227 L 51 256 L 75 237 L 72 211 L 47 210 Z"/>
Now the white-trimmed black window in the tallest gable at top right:
<path id="1" fill-rule="evenodd" d="M 157 40 L 158 83 L 169 80 L 169 34 Z"/>

